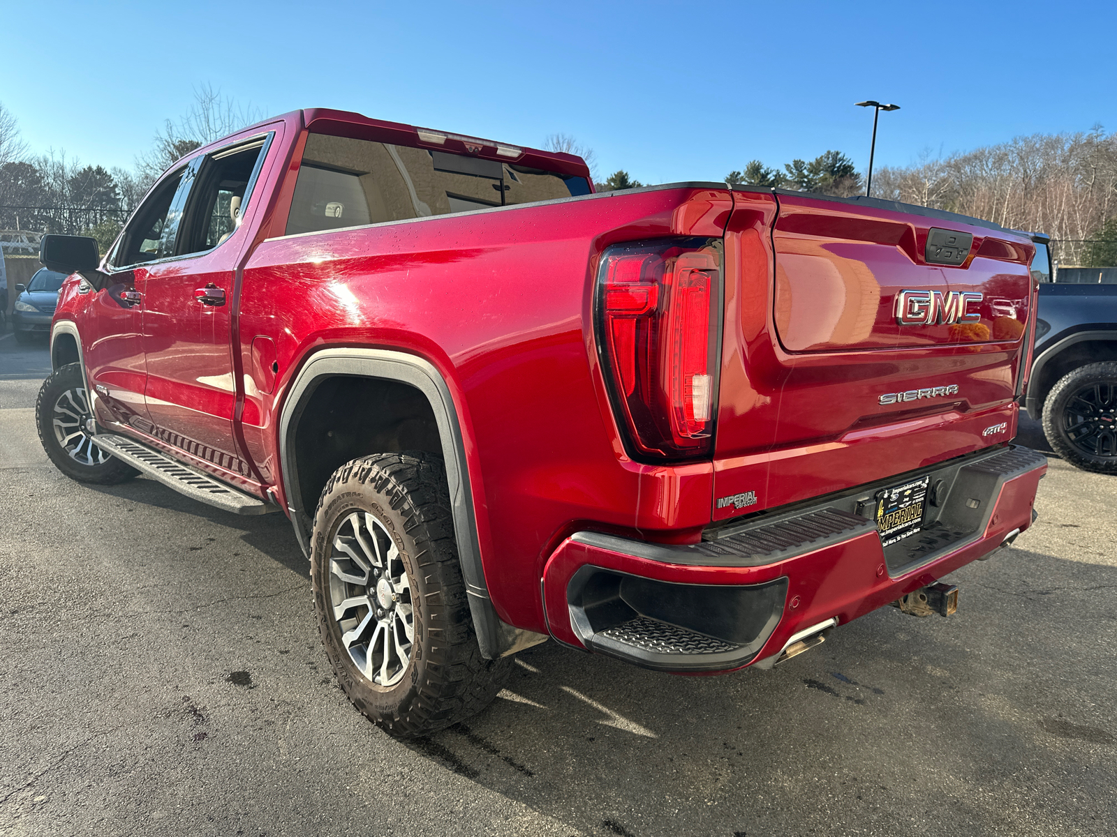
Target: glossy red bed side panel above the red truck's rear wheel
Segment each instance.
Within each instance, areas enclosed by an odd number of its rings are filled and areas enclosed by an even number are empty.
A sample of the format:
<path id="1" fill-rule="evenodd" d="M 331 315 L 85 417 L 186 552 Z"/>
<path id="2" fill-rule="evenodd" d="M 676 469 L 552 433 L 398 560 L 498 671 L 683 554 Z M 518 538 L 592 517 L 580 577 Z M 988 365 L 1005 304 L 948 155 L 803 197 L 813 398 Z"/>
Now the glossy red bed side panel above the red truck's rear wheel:
<path id="1" fill-rule="evenodd" d="M 431 362 L 458 410 L 493 602 L 506 622 L 545 631 L 543 560 L 579 521 L 695 539 L 709 522 L 710 463 L 624 455 L 595 369 L 590 291 L 608 244 L 719 235 L 731 208 L 724 190 L 655 190 L 265 241 L 245 268 L 240 335 L 274 335 L 279 379 L 249 398 L 246 424 L 270 424 L 316 348 Z M 249 444 L 278 460 L 274 431 Z"/>

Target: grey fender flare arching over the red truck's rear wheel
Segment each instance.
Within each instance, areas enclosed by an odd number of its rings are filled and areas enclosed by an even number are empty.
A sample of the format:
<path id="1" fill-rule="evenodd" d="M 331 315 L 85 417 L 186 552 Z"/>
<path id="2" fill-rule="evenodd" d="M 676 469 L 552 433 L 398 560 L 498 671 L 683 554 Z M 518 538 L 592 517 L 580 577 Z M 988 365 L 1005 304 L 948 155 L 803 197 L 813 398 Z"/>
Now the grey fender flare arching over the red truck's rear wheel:
<path id="1" fill-rule="evenodd" d="M 426 398 L 446 463 L 461 575 L 481 654 L 493 660 L 545 639 L 541 634 L 505 624 L 496 614 L 481 566 L 465 440 L 454 397 L 435 365 L 417 355 L 374 348 L 323 348 L 303 364 L 292 382 L 279 414 L 279 459 L 284 494 L 303 551 L 307 556 L 311 554 L 314 510 L 307 508 L 307 492 L 304 491 L 307 487 L 300 484 L 299 427 L 307 421 L 315 395 L 322 392 L 324 384 L 336 378 L 402 384 Z M 365 451 L 364 454 L 372 452 Z"/>

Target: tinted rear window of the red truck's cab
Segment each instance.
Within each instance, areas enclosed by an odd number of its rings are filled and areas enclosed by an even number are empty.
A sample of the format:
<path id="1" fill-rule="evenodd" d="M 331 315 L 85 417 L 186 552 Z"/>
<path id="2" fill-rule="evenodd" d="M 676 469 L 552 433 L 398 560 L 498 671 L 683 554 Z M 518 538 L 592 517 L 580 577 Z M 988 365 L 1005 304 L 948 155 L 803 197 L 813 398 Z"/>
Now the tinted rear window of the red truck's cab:
<path id="1" fill-rule="evenodd" d="M 589 194 L 585 177 L 495 160 L 311 134 L 287 234 Z"/>

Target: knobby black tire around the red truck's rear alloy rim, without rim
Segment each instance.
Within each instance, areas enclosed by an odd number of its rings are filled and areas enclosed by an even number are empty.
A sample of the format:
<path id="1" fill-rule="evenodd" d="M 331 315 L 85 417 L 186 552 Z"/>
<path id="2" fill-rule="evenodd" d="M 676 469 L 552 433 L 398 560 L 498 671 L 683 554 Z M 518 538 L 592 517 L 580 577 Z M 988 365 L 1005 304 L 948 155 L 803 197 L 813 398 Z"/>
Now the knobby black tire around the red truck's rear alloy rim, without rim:
<path id="1" fill-rule="evenodd" d="M 334 539 L 354 511 L 383 526 L 410 578 L 410 662 L 388 687 L 359 670 L 332 607 Z M 342 690 L 390 734 L 411 738 L 450 727 L 483 710 L 504 686 L 512 660 L 485 660 L 477 645 L 441 456 L 380 453 L 337 469 L 314 516 L 311 580 L 322 643 Z"/>

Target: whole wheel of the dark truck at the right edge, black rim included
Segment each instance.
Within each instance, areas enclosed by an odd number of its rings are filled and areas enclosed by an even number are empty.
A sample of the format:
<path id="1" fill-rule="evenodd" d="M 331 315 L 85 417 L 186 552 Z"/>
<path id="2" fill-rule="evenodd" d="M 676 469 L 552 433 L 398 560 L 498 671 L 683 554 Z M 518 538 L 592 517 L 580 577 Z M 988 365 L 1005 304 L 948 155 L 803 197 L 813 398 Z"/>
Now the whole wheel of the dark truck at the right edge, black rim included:
<path id="1" fill-rule="evenodd" d="M 1117 363 L 1087 364 L 1060 378 L 1043 403 L 1043 434 L 1072 465 L 1117 473 Z"/>

